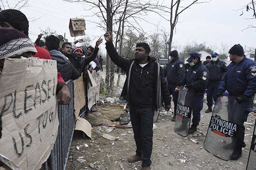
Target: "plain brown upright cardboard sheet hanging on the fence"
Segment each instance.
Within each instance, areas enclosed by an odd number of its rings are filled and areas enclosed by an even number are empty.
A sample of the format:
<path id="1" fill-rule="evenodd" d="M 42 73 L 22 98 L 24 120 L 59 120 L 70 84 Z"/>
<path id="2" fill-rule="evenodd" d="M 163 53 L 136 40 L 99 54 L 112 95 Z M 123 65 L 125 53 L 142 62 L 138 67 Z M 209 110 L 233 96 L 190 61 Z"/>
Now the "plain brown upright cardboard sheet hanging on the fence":
<path id="1" fill-rule="evenodd" d="M 79 116 L 81 108 L 85 105 L 85 87 L 84 87 L 84 77 L 81 75 L 78 79 L 73 81 L 74 83 L 74 110 L 76 119 Z"/>

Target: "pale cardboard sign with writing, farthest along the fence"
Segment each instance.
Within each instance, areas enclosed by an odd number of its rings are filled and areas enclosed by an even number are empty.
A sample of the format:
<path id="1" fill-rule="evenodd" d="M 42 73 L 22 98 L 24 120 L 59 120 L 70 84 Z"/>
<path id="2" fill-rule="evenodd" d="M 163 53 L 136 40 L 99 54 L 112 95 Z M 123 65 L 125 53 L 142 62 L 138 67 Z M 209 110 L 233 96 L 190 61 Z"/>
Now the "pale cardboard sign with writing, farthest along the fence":
<path id="1" fill-rule="evenodd" d="M 99 100 L 99 89 L 100 89 L 100 75 L 99 72 L 96 73 L 95 70 L 93 70 L 91 76 L 90 72 L 88 72 L 87 77 L 90 77 L 92 80 L 92 87 L 90 85 L 87 85 L 87 97 L 88 97 L 88 108 L 91 109 L 92 106 L 96 103 L 97 100 Z M 88 83 L 89 84 L 89 83 Z"/>

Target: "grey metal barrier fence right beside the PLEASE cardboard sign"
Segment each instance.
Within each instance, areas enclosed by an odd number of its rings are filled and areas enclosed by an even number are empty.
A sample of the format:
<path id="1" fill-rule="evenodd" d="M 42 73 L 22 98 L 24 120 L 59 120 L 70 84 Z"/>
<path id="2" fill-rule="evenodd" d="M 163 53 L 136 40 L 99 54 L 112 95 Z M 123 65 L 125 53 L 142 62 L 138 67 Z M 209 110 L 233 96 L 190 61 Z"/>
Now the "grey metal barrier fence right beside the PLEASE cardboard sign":
<path id="1" fill-rule="evenodd" d="M 58 136 L 48 160 L 41 168 L 42 170 L 65 170 L 67 166 L 68 154 L 76 125 L 76 117 L 73 108 L 73 81 L 69 80 L 66 84 L 70 88 L 71 101 L 69 105 L 58 106 Z M 81 109 L 79 115 L 81 116 L 85 111 L 86 106 Z"/>

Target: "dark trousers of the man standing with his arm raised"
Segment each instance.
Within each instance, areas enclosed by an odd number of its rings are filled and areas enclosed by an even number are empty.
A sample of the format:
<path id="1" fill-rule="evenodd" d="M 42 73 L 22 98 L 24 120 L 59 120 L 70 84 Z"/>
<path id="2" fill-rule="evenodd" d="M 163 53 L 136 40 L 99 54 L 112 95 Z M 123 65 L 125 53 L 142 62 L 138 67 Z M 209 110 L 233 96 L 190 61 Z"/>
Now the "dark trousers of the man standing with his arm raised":
<path id="1" fill-rule="evenodd" d="M 131 124 L 136 143 L 136 155 L 141 157 L 142 166 L 150 166 L 153 146 L 153 108 L 136 108 L 130 105 Z"/>

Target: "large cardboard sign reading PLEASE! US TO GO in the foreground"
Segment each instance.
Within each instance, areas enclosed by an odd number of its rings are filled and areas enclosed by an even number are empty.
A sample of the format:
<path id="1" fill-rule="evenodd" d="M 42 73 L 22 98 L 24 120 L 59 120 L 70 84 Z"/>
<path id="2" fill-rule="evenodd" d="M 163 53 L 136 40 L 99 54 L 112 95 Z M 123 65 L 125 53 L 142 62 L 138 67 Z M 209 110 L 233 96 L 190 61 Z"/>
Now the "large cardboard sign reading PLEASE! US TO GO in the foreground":
<path id="1" fill-rule="evenodd" d="M 0 79 L 0 155 L 21 170 L 38 170 L 58 133 L 55 60 L 5 59 Z"/>

